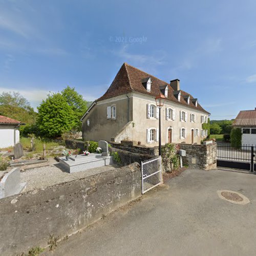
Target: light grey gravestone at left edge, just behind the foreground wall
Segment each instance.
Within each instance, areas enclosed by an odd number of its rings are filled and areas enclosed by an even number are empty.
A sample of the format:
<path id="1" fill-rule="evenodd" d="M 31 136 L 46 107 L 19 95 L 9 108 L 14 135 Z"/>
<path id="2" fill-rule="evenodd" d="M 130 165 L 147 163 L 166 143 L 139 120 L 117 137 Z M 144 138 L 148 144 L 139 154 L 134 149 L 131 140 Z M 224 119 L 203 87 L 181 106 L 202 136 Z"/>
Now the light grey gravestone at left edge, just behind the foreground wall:
<path id="1" fill-rule="evenodd" d="M 26 187 L 26 182 L 20 183 L 20 168 L 13 168 L 0 181 L 0 198 L 19 194 Z"/>

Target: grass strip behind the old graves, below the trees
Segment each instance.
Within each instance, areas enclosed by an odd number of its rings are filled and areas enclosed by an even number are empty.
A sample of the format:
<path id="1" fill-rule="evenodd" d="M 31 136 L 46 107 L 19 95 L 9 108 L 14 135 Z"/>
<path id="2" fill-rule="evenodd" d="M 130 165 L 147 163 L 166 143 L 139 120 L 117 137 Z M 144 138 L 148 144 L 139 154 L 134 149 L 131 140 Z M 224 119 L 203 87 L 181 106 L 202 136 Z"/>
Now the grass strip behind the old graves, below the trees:
<path id="1" fill-rule="evenodd" d="M 22 143 L 23 148 L 25 150 L 31 150 L 30 140 L 31 138 L 20 137 L 20 143 Z M 53 146 L 63 145 L 61 142 L 56 142 L 46 138 L 35 138 L 34 143 L 35 143 L 35 151 L 33 151 L 33 153 L 41 153 L 44 150 L 44 144 L 46 145 L 46 150 L 50 150 L 50 148 Z"/>

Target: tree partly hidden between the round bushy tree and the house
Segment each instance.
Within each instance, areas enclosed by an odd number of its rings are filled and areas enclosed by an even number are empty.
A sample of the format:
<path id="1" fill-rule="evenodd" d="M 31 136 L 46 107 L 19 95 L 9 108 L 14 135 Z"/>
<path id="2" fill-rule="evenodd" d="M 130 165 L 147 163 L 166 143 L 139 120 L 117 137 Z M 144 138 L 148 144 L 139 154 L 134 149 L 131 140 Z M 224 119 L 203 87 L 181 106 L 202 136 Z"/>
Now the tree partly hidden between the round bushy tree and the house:
<path id="1" fill-rule="evenodd" d="M 80 119 L 88 109 L 88 102 L 83 99 L 81 94 L 78 94 L 75 91 L 75 88 L 71 88 L 69 86 L 62 90 L 61 94 L 74 112 L 75 124 L 72 128 L 76 129 L 77 131 L 81 131 L 82 124 Z"/>

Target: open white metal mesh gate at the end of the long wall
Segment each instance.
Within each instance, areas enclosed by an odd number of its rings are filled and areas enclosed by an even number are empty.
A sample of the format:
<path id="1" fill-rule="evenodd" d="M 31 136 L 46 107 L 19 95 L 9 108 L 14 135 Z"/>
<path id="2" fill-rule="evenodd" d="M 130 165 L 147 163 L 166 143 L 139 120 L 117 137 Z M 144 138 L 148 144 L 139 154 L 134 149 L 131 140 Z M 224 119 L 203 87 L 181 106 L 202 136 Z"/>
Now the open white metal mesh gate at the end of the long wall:
<path id="1" fill-rule="evenodd" d="M 142 194 L 161 183 L 161 170 L 161 156 L 141 162 Z"/>

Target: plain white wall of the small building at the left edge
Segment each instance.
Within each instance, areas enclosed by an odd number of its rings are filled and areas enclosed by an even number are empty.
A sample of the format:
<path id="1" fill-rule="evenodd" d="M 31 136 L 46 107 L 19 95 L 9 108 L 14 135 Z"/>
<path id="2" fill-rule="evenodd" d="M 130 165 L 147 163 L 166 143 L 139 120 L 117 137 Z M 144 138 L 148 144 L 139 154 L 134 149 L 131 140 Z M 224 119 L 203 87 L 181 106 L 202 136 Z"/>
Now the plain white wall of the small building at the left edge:
<path id="1" fill-rule="evenodd" d="M 14 146 L 19 142 L 17 125 L 0 124 L 0 148 Z"/>

